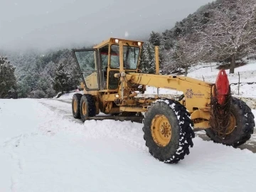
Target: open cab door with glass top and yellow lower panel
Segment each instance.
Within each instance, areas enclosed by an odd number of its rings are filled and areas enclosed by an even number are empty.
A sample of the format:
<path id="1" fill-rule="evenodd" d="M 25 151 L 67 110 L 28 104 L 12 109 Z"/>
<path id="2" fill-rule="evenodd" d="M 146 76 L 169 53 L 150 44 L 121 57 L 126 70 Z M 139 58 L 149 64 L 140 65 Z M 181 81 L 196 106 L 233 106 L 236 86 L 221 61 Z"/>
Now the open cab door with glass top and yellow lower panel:
<path id="1" fill-rule="evenodd" d="M 97 49 L 77 49 L 72 52 L 85 84 L 85 90 L 100 90 Z"/>

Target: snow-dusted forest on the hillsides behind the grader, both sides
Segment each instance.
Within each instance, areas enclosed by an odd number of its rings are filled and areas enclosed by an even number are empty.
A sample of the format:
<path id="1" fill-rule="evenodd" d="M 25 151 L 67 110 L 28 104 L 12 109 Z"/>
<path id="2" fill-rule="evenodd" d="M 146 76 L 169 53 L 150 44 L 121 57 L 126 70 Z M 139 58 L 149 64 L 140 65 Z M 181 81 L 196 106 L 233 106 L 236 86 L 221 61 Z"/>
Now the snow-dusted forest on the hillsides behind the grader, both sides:
<path id="1" fill-rule="evenodd" d="M 213 1 L 166 31 L 149 31 L 139 63 L 142 72 L 154 73 L 154 46 L 159 46 L 162 74 L 187 75 L 201 62 L 222 63 L 235 73 L 236 63 L 256 58 L 255 4 L 255 0 Z M 68 48 L 43 53 L 0 50 L 0 98 L 54 97 L 77 89 L 80 81 Z"/>

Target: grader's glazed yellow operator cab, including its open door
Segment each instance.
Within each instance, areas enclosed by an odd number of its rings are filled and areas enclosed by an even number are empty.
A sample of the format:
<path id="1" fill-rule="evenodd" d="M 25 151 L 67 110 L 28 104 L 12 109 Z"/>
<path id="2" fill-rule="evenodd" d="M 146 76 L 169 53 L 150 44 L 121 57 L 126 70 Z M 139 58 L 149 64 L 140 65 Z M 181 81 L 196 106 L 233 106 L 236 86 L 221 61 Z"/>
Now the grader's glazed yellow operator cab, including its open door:
<path id="1" fill-rule="evenodd" d="M 110 38 L 94 48 L 73 50 L 85 89 L 116 90 L 119 79 L 114 78 L 114 74 L 121 73 L 122 67 L 125 73 L 138 72 L 142 44 L 139 41 Z"/>

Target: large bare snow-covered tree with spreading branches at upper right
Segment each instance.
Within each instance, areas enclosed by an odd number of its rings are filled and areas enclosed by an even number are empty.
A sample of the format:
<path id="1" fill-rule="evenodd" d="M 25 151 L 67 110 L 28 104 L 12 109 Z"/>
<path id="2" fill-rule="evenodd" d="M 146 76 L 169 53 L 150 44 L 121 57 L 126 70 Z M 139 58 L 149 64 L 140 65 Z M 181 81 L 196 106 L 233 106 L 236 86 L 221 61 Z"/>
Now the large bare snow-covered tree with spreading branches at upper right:
<path id="1" fill-rule="evenodd" d="M 255 52 L 255 0 L 225 0 L 210 15 L 207 26 L 197 31 L 198 48 L 208 52 L 208 61 L 229 59 L 230 73 L 234 73 L 235 60 Z"/>

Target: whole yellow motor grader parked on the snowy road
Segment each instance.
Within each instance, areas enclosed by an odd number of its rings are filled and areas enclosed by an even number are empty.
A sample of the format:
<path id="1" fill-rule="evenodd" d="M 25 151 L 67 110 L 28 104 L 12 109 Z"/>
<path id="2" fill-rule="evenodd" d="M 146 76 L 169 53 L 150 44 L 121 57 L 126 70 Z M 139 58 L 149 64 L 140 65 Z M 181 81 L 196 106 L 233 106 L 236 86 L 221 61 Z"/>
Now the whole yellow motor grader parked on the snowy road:
<path id="1" fill-rule="evenodd" d="M 155 46 L 156 74 L 140 73 L 142 46 L 142 41 L 109 38 L 94 48 L 73 50 L 83 88 L 83 95 L 73 95 L 73 117 L 82 122 L 143 118 L 149 153 L 170 164 L 189 154 L 196 129 L 206 130 L 213 142 L 234 147 L 250 139 L 254 116 L 245 102 L 230 95 L 225 70 L 220 70 L 215 83 L 159 75 L 159 46 Z M 139 97 L 147 85 L 183 95 Z M 99 116 L 100 112 L 109 115 Z"/>

